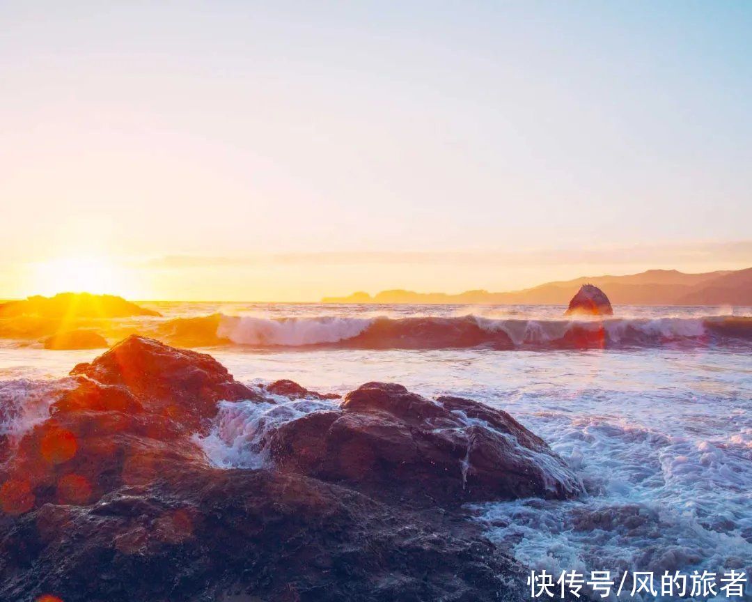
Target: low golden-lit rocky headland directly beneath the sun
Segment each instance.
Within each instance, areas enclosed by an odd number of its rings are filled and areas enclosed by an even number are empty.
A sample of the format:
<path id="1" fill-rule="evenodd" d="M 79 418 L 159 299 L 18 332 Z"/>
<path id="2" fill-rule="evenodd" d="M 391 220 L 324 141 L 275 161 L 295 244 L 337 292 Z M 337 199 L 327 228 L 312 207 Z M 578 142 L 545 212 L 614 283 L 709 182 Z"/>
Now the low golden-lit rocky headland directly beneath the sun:
<path id="1" fill-rule="evenodd" d="M 126 318 L 136 315 L 158 316 L 159 312 L 137 306 L 114 295 L 58 293 L 55 296 L 30 296 L 28 299 L 0 304 L 0 318 L 36 315 L 41 318 Z"/>

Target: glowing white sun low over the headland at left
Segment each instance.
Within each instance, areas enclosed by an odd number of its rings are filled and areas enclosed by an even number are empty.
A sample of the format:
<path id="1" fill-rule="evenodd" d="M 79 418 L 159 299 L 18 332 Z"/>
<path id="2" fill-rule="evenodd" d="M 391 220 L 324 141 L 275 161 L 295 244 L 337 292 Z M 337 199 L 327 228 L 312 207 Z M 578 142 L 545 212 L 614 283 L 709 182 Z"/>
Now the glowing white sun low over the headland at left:
<path id="1" fill-rule="evenodd" d="M 107 257 L 59 257 L 38 263 L 35 292 L 50 296 L 56 293 L 96 293 L 129 296 L 126 275 Z"/>

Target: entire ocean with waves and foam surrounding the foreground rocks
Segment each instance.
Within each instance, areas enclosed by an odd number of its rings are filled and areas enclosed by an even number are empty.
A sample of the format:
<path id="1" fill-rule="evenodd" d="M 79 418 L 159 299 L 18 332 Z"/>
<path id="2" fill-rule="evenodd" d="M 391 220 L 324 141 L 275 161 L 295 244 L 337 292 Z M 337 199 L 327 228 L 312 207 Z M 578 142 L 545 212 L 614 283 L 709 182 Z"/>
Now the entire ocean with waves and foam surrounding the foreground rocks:
<path id="1" fill-rule="evenodd" d="M 138 332 L 190 345 L 247 384 L 292 379 L 344 394 L 398 382 L 509 412 L 587 490 L 578 500 L 468 507 L 531 568 L 749 574 L 750 308 L 617 306 L 604 321 L 571 321 L 562 306 L 141 305 L 163 317 L 103 321 L 99 330 L 110 342 Z M 0 425 L 5 432 L 43 419 L 50 382 L 102 352 L 49 351 L 29 333 L 8 336 L 8 327 L 0 334 L 0 402 L 18 409 Z M 258 466 L 259 422 L 336 402 L 286 403 L 220 411 L 200 440 L 208 457 Z"/>

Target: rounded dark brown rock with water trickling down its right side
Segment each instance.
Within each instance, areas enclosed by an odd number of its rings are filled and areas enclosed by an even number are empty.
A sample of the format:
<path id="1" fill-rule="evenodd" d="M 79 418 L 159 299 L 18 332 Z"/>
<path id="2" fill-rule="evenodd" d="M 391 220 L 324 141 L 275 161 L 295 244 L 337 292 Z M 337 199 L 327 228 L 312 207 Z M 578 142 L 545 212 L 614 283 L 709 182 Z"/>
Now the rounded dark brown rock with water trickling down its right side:
<path id="1" fill-rule="evenodd" d="M 459 397 L 435 402 L 372 382 L 341 409 L 281 425 L 271 436 L 281 470 L 418 506 L 581 493 L 548 445 L 506 412 Z"/>

